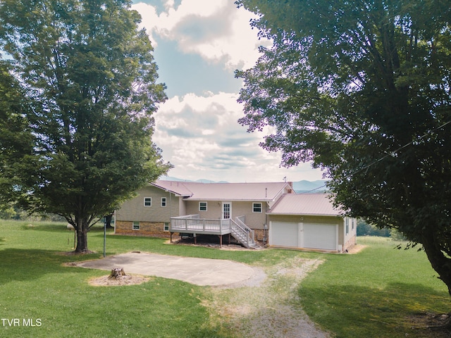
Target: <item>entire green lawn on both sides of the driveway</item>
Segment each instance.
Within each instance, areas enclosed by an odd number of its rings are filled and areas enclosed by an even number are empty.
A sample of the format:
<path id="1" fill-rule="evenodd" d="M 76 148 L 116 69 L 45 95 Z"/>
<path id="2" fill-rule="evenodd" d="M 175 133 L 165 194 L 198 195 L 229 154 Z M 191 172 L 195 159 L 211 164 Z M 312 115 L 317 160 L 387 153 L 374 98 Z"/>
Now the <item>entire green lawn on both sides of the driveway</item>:
<path id="1" fill-rule="evenodd" d="M 367 247 L 353 255 L 164 242 L 109 233 L 106 254 L 140 250 L 230 259 L 268 270 L 288 258 L 320 258 L 324 263 L 299 284 L 292 306 L 304 308 L 335 337 L 432 337 L 412 330 L 410 318 L 450 310 L 447 289 L 424 253 L 395 250 L 386 239 L 359 239 Z M 158 277 L 134 286 L 90 286 L 90 278 L 105 272 L 63 265 L 100 258 L 101 227 L 89 232 L 88 246 L 97 253 L 64 254 L 73 250 L 73 232 L 62 223 L 0 221 L 0 337 L 240 337 L 228 318 L 204 306 L 209 287 Z"/>

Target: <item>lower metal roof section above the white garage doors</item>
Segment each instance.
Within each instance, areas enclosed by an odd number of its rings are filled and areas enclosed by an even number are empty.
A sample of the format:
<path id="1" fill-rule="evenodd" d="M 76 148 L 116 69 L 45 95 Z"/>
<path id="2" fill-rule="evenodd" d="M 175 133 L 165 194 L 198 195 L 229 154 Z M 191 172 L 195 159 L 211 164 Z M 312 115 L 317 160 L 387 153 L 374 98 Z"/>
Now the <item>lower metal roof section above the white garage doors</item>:
<path id="1" fill-rule="evenodd" d="M 338 216 L 343 211 L 333 207 L 330 194 L 285 194 L 268 212 L 270 215 Z"/>

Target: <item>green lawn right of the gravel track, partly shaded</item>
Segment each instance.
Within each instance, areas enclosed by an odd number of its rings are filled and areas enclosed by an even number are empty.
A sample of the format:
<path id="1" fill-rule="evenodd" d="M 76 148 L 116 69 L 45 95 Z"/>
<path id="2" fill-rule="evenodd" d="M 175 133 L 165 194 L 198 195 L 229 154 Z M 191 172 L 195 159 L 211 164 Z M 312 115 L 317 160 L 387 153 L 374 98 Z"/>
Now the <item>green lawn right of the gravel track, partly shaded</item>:
<path id="1" fill-rule="evenodd" d="M 336 337 L 433 337 L 412 318 L 447 313 L 450 296 L 424 252 L 361 237 L 366 249 L 331 255 L 299 288 L 304 311 Z"/>

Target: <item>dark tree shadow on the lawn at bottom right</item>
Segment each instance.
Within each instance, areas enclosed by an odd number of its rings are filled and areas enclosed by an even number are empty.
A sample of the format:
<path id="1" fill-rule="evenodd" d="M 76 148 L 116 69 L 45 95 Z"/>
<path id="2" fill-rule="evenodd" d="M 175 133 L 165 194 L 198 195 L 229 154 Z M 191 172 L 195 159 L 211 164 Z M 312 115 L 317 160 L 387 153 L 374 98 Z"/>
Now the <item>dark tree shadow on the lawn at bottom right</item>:
<path id="1" fill-rule="evenodd" d="M 446 292 L 421 284 L 392 283 L 384 289 L 354 285 L 299 289 L 301 305 L 316 323 L 338 337 L 442 337 L 415 318 L 450 310 Z M 416 327 L 416 330 L 413 329 Z"/>

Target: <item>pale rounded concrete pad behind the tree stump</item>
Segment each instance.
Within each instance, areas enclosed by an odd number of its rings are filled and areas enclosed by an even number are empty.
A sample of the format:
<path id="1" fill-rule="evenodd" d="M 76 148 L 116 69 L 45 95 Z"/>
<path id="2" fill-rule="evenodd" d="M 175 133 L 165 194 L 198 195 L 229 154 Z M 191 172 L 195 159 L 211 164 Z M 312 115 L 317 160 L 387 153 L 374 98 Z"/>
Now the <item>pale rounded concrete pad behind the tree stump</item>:
<path id="1" fill-rule="evenodd" d="M 233 261 L 156 253 L 123 253 L 77 265 L 99 270 L 123 268 L 125 273 L 172 278 L 201 286 L 245 284 L 258 275 L 249 265 Z"/>

